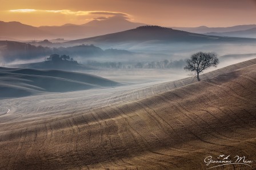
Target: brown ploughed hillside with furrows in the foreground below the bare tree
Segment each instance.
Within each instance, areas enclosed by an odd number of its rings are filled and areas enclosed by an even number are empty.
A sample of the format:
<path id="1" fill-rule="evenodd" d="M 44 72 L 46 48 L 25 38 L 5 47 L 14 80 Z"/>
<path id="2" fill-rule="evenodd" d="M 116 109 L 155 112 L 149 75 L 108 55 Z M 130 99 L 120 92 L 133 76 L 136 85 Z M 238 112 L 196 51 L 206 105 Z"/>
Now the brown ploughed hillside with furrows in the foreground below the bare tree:
<path id="1" fill-rule="evenodd" d="M 77 100 L 72 93 L 2 100 L 10 112 L 1 116 L 0 167 L 207 169 L 216 165 L 206 165 L 207 156 L 255 160 L 255 70 L 253 59 L 208 72 L 201 82 L 187 78 L 102 100 L 85 91 Z M 54 111 L 54 102 L 64 104 Z"/>

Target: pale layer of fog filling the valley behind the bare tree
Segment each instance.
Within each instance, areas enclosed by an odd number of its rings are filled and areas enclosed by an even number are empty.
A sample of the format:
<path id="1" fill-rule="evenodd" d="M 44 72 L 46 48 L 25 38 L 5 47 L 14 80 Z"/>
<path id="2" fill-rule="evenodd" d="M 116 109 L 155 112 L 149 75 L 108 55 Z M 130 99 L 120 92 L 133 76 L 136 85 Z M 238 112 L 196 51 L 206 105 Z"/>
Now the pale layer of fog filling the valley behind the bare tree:
<path id="1" fill-rule="evenodd" d="M 150 43 L 149 43 L 150 44 Z M 170 45 L 170 46 L 169 46 Z M 122 48 L 122 47 L 120 47 Z M 137 50 L 136 50 L 137 49 Z M 138 52 L 139 49 L 142 52 Z M 170 61 L 182 61 L 190 58 L 190 56 L 198 51 L 203 52 L 215 52 L 219 56 L 220 63 L 217 68 L 222 68 L 229 66 L 231 64 L 243 62 L 245 60 L 253 59 L 256 57 L 255 44 L 152 44 L 149 46 L 145 44 L 137 44 L 130 49 L 130 54 L 115 54 L 115 55 L 102 55 L 102 56 L 86 56 L 85 55 L 74 55 L 71 56 L 78 63 L 87 64 L 90 60 L 95 60 L 97 62 L 121 62 L 123 66 L 132 66 L 138 62 L 144 64 L 145 67 L 136 68 L 134 67 L 124 67 L 119 69 L 109 69 L 109 68 L 97 68 L 96 70 L 79 70 L 79 72 L 86 72 L 89 74 L 94 74 L 102 76 L 103 78 L 108 78 L 116 80 L 122 83 L 145 83 L 154 82 L 159 80 L 177 80 L 185 78 L 187 72 L 183 70 L 185 62 L 183 62 L 178 67 L 171 68 L 147 68 L 147 64 L 150 62 L 162 62 L 163 60 Z M 134 51 L 133 51 L 134 50 Z M 129 52 L 129 51 L 128 51 Z M 250 54 L 250 55 L 246 55 Z M 62 54 L 61 54 L 62 55 Z M 229 56 L 226 56 L 229 55 Z M 234 55 L 234 56 L 233 56 Z M 42 62 L 45 60 L 46 56 L 36 59 L 29 60 L 14 60 L 8 64 L 24 64 L 33 62 Z M 217 69 L 210 68 L 205 72 Z M 78 70 L 75 70 L 78 71 Z"/>

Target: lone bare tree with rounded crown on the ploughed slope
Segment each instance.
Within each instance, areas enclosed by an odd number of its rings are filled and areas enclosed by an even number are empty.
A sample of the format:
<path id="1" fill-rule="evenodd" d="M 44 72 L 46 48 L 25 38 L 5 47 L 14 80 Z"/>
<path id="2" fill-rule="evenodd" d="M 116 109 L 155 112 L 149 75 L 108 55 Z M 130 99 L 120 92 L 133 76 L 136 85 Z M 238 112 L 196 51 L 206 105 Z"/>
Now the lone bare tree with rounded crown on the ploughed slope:
<path id="1" fill-rule="evenodd" d="M 200 81 L 199 74 L 203 70 L 209 67 L 217 67 L 219 64 L 219 59 L 217 55 L 213 52 L 197 52 L 191 55 L 190 59 L 186 60 L 186 71 L 192 71 L 197 73 L 197 80 Z"/>

